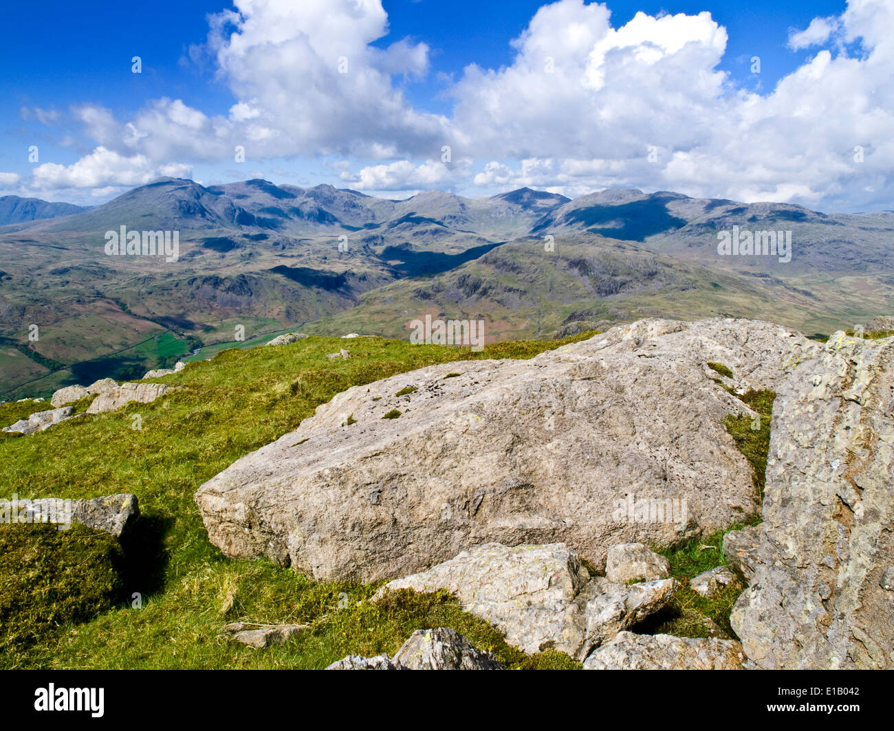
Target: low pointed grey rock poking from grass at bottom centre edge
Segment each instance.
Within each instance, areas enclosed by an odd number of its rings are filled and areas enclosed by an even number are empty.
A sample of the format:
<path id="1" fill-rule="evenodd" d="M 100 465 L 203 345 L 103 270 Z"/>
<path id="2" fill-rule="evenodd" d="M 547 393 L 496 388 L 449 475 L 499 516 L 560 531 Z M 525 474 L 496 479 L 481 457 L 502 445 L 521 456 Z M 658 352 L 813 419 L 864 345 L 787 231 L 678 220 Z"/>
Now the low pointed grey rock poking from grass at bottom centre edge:
<path id="1" fill-rule="evenodd" d="M 478 650 L 448 627 L 418 629 L 393 658 L 349 655 L 327 670 L 502 670 L 490 652 Z"/>

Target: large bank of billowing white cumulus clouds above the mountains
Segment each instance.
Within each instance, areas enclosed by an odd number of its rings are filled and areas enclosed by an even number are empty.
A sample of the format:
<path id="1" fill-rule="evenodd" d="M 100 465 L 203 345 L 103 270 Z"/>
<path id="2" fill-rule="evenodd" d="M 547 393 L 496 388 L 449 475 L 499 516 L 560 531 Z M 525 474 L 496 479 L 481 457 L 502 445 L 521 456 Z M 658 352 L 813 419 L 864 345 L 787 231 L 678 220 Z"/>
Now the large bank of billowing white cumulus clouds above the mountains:
<path id="1" fill-rule="evenodd" d="M 471 64 L 450 82 L 449 118 L 402 93 L 403 80 L 428 73 L 429 48 L 407 38 L 379 47 L 381 0 L 236 0 L 210 26 L 207 51 L 234 98 L 228 113 L 162 98 L 118 120 L 81 105 L 75 117 L 96 149 L 76 164 L 41 165 L 35 181 L 138 184 L 165 169 L 183 174 L 189 165 L 176 161 L 232 160 L 240 145 L 256 163 L 349 160 L 330 166 L 333 176 L 370 191 L 638 187 L 890 207 L 890 0 L 849 0 L 840 16 L 793 29 L 789 47 L 813 55 L 761 94 L 720 70 L 728 33 L 710 13 L 637 13 L 615 27 L 605 4 L 559 0 L 512 41 L 511 63 Z M 443 145 L 459 163 L 437 161 Z"/>

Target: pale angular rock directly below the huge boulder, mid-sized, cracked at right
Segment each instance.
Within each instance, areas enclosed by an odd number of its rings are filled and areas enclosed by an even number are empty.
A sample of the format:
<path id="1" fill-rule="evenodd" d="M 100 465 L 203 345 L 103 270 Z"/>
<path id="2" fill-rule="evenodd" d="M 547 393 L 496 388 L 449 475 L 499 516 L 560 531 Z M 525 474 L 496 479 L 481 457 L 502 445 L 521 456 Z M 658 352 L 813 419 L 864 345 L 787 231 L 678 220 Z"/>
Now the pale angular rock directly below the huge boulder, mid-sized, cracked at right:
<path id="1" fill-rule="evenodd" d="M 583 660 L 596 645 L 661 609 L 674 586 L 673 579 L 626 585 L 591 578 L 562 543 L 514 548 L 487 543 L 389 582 L 376 598 L 397 589 L 446 589 L 519 649 L 552 648 Z"/>

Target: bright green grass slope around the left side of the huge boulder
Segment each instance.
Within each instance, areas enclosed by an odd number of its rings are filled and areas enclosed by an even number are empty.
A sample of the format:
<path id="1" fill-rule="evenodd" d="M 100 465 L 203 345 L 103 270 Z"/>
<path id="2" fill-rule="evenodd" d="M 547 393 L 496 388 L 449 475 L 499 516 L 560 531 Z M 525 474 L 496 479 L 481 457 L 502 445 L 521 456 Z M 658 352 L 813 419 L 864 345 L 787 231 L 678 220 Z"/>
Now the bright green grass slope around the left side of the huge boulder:
<path id="1" fill-rule="evenodd" d="M 337 338 L 228 349 L 209 363 L 166 376 L 165 383 L 181 388 L 164 399 L 0 441 L 0 497 L 132 492 L 143 516 L 124 545 L 126 570 L 114 608 L 86 621 L 46 623 L 26 650 L 0 653 L 0 667 L 320 668 L 349 653 L 393 652 L 412 631 L 431 626 L 453 627 L 510 667 L 576 667 L 561 653 L 524 656 L 445 595 L 401 595 L 400 601 L 374 604 L 368 600 L 375 585 L 315 584 L 263 560 L 225 559 L 208 542 L 192 496 L 350 386 L 460 359 L 534 357 L 594 334 L 504 342 L 478 353 L 361 338 L 352 340 L 347 360 L 326 358 L 342 344 Z M 3 407 L 13 416 L 11 405 Z M 134 414 L 141 416 L 141 430 L 131 429 Z M 141 595 L 141 609 L 131 606 L 134 592 Z M 41 611 L 34 601 L 25 604 Z M 312 627 L 288 643 L 256 651 L 223 636 L 223 625 L 237 619 Z"/>

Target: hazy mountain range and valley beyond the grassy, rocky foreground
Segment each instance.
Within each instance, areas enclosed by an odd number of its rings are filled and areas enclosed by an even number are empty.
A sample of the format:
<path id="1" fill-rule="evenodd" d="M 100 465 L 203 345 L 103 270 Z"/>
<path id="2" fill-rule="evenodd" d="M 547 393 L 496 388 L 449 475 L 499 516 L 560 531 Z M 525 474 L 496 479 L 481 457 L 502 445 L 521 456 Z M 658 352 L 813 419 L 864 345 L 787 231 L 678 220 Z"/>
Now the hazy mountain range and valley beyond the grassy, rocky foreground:
<path id="1" fill-rule="evenodd" d="M 405 338 L 431 314 L 484 319 L 492 341 L 722 315 L 828 333 L 894 309 L 891 212 L 165 178 L 92 208 L 2 197 L 0 224 L 0 399 L 138 378 L 298 326 Z M 176 231 L 176 261 L 107 256 L 105 234 L 122 226 Z M 723 231 L 789 231 L 790 260 L 720 256 Z"/>

